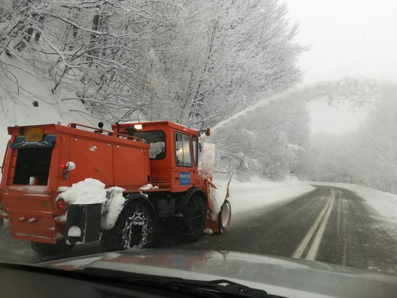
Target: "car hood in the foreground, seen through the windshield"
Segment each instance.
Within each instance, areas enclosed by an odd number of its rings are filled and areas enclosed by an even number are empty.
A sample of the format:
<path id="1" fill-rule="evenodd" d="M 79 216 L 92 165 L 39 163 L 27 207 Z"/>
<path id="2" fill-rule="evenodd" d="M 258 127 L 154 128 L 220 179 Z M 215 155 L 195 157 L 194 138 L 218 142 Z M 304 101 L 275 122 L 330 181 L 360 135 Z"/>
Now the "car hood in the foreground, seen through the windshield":
<path id="1" fill-rule="evenodd" d="M 61 270 L 102 268 L 195 280 L 228 279 L 286 297 L 394 297 L 397 277 L 288 257 L 229 251 L 132 250 L 48 261 Z"/>

